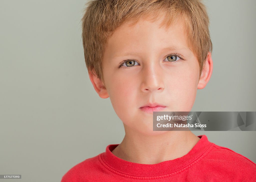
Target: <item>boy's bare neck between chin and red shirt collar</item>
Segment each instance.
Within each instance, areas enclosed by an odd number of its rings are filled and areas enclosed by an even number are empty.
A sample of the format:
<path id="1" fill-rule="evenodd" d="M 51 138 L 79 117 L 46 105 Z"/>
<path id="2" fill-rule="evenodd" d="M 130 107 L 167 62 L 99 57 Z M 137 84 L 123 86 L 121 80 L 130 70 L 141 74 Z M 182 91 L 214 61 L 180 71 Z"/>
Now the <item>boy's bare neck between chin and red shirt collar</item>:
<path id="1" fill-rule="evenodd" d="M 144 135 L 127 126 L 123 141 L 112 153 L 123 160 L 139 164 L 157 164 L 186 155 L 199 141 L 191 131 L 164 131 Z"/>

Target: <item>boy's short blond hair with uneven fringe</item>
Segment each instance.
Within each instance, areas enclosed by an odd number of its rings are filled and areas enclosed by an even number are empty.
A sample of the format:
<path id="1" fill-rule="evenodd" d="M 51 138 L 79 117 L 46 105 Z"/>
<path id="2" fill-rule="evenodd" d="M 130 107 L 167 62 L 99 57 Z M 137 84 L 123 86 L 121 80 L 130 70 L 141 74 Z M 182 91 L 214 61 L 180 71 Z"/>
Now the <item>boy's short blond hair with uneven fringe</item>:
<path id="1" fill-rule="evenodd" d="M 82 18 L 82 41 L 88 70 L 104 82 L 102 57 L 108 38 L 123 22 L 142 16 L 156 18 L 164 12 L 166 26 L 181 18 L 187 30 L 190 49 L 198 59 L 201 75 L 208 52 L 212 51 L 209 18 L 200 0 L 94 0 L 85 8 Z"/>

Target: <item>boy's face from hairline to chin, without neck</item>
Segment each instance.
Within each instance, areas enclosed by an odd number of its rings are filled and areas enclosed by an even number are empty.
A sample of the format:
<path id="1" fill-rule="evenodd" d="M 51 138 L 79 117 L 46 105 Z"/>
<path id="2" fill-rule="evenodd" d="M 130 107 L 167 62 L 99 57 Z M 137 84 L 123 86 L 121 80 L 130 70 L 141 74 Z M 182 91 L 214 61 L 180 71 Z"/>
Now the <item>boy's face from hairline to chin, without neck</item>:
<path id="1" fill-rule="evenodd" d="M 140 19 L 133 26 L 126 22 L 114 32 L 103 56 L 106 90 L 98 92 L 110 97 L 125 127 L 147 135 L 157 132 L 153 112 L 143 106 L 158 103 L 165 106 L 159 111 L 190 111 L 198 88 L 199 63 L 183 24 L 159 28 L 162 20 Z"/>

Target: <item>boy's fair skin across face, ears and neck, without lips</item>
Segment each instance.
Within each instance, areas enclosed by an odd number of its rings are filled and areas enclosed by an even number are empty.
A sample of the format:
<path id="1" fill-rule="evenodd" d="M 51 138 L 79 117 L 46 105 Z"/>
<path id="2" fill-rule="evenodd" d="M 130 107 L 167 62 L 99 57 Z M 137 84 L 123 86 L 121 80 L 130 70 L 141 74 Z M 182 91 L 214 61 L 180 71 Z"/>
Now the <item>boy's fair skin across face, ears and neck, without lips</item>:
<path id="1" fill-rule="evenodd" d="M 199 77 L 198 60 L 189 49 L 181 21 L 165 28 L 159 27 L 162 20 L 141 18 L 133 26 L 123 23 L 106 45 L 104 83 L 89 71 L 94 89 L 101 98 L 110 98 L 124 125 L 124 139 L 112 153 L 130 162 L 173 160 L 186 155 L 199 141 L 190 131 L 153 131 L 153 113 L 140 109 L 157 102 L 166 106 L 162 111 L 190 111 L 197 89 L 206 86 L 212 73 L 209 52 Z"/>

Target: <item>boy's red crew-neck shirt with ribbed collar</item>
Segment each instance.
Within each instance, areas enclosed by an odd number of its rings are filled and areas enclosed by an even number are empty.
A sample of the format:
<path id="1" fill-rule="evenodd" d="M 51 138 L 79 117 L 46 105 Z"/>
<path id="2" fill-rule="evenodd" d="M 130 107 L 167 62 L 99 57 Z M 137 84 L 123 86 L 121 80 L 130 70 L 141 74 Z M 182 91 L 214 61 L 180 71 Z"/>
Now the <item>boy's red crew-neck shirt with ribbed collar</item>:
<path id="1" fill-rule="evenodd" d="M 72 167 L 61 182 L 82 181 L 256 181 L 256 164 L 206 135 L 183 157 L 158 164 L 138 164 L 116 157 L 106 147 L 93 158 Z"/>

